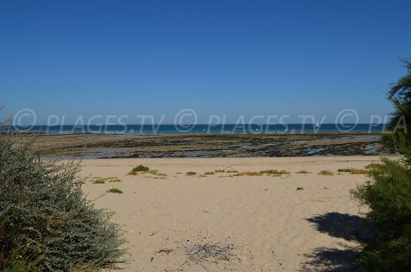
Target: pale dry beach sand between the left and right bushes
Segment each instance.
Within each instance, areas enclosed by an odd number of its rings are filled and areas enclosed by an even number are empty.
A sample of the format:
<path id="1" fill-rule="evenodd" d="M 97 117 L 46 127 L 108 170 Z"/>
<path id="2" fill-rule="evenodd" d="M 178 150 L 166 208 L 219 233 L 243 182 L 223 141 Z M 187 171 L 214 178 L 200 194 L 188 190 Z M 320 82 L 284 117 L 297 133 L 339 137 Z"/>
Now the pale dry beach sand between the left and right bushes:
<path id="1" fill-rule="evenodd" d="M 84 191 L 97 207 L 114 210 L 113 221 L 126 231 L 129 256 L 128 263 L 121 264 L 124 271 L 318 271 L 318 266 L 327 265 L 309 263 L 319 258 L 315 255 L 319 248 L 356 245 L 329 219 L 347 225 L 351 216 L 356 219 L 366 211 L 351 201 L 349 190 L 368 177 L 337 175 L 336 170 L 362 168 L 378 160 L 376 156 L 84 160 L 82 174 L 122 181 L 87 182 Z M 166 173 L 166 180 L 126 175 L 138 164 Z M 198 177 L 216 169 L 291 173 Z M 297 174 L 301 169 L 312 173 Z M 323 169 L 334 175 L 318 175 Z M 188 171 L 197 175 L 186 176 Z M 113 187 L 124 193 L 105 193 Z M 315 217 L 319 224 L 313 222 Z M 232 255 L 197 258 L 195 246 L 207 243 L 229 245 Z"/>

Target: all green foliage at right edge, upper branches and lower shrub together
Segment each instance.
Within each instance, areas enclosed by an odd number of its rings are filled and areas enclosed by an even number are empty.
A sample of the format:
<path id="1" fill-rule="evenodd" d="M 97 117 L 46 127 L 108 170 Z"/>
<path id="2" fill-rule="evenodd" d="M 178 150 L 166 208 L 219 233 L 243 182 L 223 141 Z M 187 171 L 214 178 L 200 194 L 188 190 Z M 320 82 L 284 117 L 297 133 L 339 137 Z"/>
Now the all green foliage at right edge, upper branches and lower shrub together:
<path id="1" fill-rule="evenodd" d="M 403 62 L 408 75 L 388 94 L 396 110 L 386 139 L 404 156 L 371 164 L 371 180 L 351 191 L 354 199 L 369 206 L 367 218 L 375 225 L 375 236 L 360 241 L 368 271 L 411 271 L 411 62 Z"/>

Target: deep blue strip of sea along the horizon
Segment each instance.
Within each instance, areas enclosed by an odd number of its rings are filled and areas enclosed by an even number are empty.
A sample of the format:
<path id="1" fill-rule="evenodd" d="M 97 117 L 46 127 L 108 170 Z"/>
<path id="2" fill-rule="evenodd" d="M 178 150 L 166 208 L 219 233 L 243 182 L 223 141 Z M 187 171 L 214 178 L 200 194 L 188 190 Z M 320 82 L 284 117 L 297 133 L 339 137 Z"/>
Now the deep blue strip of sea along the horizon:
<path id="1" fill-rule="evenodd" d="M 386 124 L 322 124 L 315 125 L 55 125 L 16 127 L 21 131 L 46 134 L 229 134 L 229 133 L 325 133 L 325 132 L 383 132 Z"/>

